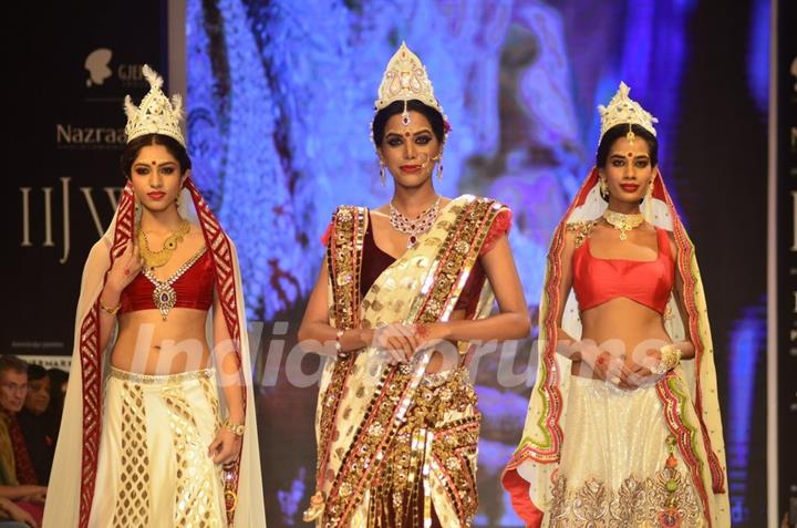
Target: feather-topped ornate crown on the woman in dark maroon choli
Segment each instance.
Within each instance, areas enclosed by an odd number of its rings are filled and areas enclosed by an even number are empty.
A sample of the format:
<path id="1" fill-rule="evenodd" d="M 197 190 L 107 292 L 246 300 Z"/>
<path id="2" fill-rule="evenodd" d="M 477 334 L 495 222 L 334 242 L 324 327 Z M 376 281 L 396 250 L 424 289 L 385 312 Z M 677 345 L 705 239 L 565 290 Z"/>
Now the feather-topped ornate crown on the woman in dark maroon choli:
<path id="1" fill-rule="evenodd" d="M 127 126 L 125 135 L 127 143 L 146 134 L 163 134 L 173 137 L 185 146 L 180 121 L 183 121 L 183 99 L 174 94 L 172 101 L 163 93 L 163 77 L 152 68 L 144 64 L 142 68 L 144 79 L 149 83 L 149 92 L 136 107 L 130 95 L 125 96 L 125 114 Z"/>

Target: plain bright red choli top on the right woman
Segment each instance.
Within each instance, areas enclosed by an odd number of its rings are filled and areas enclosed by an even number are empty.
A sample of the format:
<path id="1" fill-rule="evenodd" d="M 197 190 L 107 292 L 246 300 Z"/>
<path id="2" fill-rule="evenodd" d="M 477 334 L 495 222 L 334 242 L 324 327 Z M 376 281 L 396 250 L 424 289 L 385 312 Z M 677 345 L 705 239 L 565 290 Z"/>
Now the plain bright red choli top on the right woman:
<path id="1" fill-rule="evenodd" d="M 587 237 L 572 257 L 579 310 L 624 297 L 663 315 L 675 280 L 675 262 L 664 229 L 656 228 L 656 242 L 655 260 L 599 259 L 590 252 Z"/>

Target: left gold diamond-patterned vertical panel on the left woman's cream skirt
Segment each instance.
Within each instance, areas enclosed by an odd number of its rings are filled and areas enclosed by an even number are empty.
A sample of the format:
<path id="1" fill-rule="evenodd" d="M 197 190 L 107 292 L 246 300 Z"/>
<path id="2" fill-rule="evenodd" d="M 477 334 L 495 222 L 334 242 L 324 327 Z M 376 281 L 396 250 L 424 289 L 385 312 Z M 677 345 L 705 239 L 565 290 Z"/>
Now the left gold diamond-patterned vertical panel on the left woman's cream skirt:
<path id="1" fill-rule="evenodd" d="M 112 526 L 149 524 L 149 455 L 146 443 L 146 414 L 141 386 L 122 383 L 122 470 Z"/>

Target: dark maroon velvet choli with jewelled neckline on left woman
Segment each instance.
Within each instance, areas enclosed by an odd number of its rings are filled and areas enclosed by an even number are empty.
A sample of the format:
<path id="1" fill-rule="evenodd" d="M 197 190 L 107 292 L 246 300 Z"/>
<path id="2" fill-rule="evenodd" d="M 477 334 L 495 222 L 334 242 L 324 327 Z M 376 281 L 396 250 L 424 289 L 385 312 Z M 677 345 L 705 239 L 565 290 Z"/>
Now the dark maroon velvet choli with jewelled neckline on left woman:
<path id="1" fill-rule="evenodd" d="M 177 300 L 174 308 L 193 308 L 207 311 L 213 304 L 216 273 L 210 251 L 203 248 L 188 259 L 172 277 L 161 282 L 172 281 Z M 141 272 L 122 291 L 120 313 L 138 310 L 157 310 L 153 294 L 155 284 Z"/>

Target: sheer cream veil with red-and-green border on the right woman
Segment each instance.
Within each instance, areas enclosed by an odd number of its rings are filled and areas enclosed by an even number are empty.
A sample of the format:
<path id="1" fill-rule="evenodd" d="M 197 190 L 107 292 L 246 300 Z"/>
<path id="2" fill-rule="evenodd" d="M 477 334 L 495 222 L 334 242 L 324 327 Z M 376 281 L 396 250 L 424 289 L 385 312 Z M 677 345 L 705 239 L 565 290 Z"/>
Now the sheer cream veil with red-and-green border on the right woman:
<path id="1" fill-rule="evenodd" d="M 562 446 L 567 442 L 578 444 L 586 441 L 586 438 L 568 438 L 563 433 L 568 428 L 572 429 L 572 427 L 566 427 L 566 421 L 570 418 L 568 394 L 572 394 L 570 389 L 572 381 L 570 380 L 570 361 L 556 352 L 557 314 L 559 307 L 565 304 L 562 328 L 569 335 L 579 339 L 581 328 L 576 299 L 572 294 L 568 299 L 561 299 L 559 294 L 562 280 L 561 255 L 565 246 L 565 232 L 576 231 L 576 244 L 578 245 L 579 240 L 587 236 L 584 231 L 588 230 L 588 226 L 600 218 L 605 209 L 607 204 L 600 197 L 598 187 L 598 172 L 593 169 L 553 234 L 539 309 L 537 380 L 531 391 L 520 445 L 501 476 L 501 484 L 510 495 L 513 507 L 529 527 L 556 524 L 551 517 L 556 517 L 562 509 L 560 500 L 557 500 L 562 485 L 561 475 L 559 475 L 562 464 Z M 681 222 L 661 177 L 655 178 L 652 199 L 645 199 L 642 209 L 645 220 L 658 228 L 667 230 L 677 247 L 676 273 L 683 281 L 683 301 L 686 313 L 682 320 L 675 299 L 671 296 L 667 309 L 670 315 L 665 317 L 664 325 L 673 342 L 690 335 L 695 345 L 694 360 L 683 361 L 676 369 L 662 376 L 653 387 L 658 402 L 652 407 L 658 408 L 658 413 L 660 413 L 653 417 L 665 424 L 665 429 L 670 435 L 667 442 L 672 442 L 673 462 L 683 462 L 674 467 L 685 466 L 683 479 L 689 482 L 690 489 L 694 490 L 698 499 L 697 508 L 702 520 L 697 525 L 725 528 L 731 526 L 725 484 L 725 448 L 720 420 L 711 329 L 694 245 Z M 686 330 L 689 330 L 689 334 Z M 576 381 L 583 384 L 579 380 Z M 638 391 L 642 391 L 642 389 Z M 589 445 L 593 444 L 590 442 Z M 662 458 L 661 462 L 664 464 L 665 459 Z M 670 468 L 669 458 L 666 463 Z M 646 476 L 636 476 L 636 478 L 640 477 Z M 679 478 L 681 477 L 679 476 Z M 673 478 L 673 480 L 677 479 Z M 635 485 L 636 483 L 631 484 Z M 663 480 L 662 485 L 664 486 L 663 495 L 671 494 L 671 498 L 674 498 L 676 491 L 683 488 L 683 486 L 671 486 L 669 489 L 666 480 Z M 596 491 L 592 495 L 599 495 L 601 490 L 605 489 L 593 484 L 590 486 L 592 488 L 587 491 Z M 653 491 L 658 493 L 658 490 Z M 675 503 L 664 506 L 654 516 L 648 516 L 648 520 L 644 522 L 623 520 L 638 517 L 636 513 L 641 511 L 646 504 L 646 495 L 649 496 L 653 491 L 631 494 L 633 495 L 632 499 L 624 503 L 620 500 L 624 506 L 617 508 L 615 511 L 612 511 L 613 505 L 605 497 L 601 498 L 596 501 L 596 504 L 602 505 L 600 508 L 593 508 L 591 513 L 584 513 L 582 508 L 583 522 L 579 522 L 578 526 L 675 527 L 686 524 L 694 526 L 693 522 L 685 520 L 683 507 Z M 570 503 L 568 507 L 572 506 L 572 501 Z M 579 507 L 583 506 L 581 503 L 579 505 Z M 656 521 L 650 522 L 649 520 L 654 517 Z"/>

